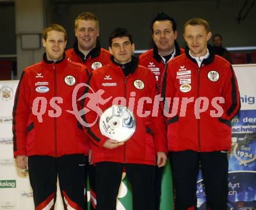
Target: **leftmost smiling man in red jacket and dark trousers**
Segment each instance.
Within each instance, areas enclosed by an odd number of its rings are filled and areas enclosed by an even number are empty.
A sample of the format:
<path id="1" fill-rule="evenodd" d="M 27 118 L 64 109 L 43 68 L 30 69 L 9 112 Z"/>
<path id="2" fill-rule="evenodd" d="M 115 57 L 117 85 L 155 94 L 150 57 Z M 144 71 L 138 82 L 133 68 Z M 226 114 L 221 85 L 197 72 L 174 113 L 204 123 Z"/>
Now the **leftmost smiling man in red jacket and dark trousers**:
<path id="1" fill-rule="evenodd" d="M 74 87 L 87 81 L 85 66 L 67 60 L 66 31 L 44 29 L 46 53 L 25 68 L 13 106 L 13 152 L 18 168 L 29 168 L 35 209 L 54 209 L 59 178 L 65 209 L 84 209 L 86 142 L 73 110 Z M 83 95 L 81 89 L 77 95 Z M 77 103 L 81 108 L 81 104 Z M 28 157 L 28 161 L 27 161 Z M 88 160 L 87 160 L 88 161 Z"/>

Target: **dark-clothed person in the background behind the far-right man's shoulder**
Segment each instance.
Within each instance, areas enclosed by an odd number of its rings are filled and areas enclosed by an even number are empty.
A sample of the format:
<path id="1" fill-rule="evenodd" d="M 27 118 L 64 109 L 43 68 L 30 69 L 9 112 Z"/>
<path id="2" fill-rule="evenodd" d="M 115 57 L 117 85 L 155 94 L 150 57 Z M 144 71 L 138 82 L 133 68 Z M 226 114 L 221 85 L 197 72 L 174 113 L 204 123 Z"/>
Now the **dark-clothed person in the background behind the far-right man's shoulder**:
<path id="1" fill-rule="evenodd" d="M 215 34 L 212 36 L 212 43 L 214 44 L 214 50 L 216 55 L 224 57 L 229 63 L 232 63 L 232 57 L 229 51 L 222 46 L 222 36 L 221 34 Z"/>

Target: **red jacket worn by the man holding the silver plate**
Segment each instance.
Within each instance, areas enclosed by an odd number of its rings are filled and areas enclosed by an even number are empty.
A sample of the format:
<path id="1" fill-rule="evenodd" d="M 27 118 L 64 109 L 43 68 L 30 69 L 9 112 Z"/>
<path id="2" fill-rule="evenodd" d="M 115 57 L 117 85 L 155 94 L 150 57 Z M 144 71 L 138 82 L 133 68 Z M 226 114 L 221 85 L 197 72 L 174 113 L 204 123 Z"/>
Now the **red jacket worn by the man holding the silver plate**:
<path id="1" fill-rule="evenodd" d="M 142 85 L 141 87 L 143 88 L 137 89 L 136 85 L 134 85 L 135 81 L 142 82 L 144 86 Z M 152 100 L 152 103 L 144 103 L 143 113 L 144 111 L 152 111 L 154 97 L 158 95 L 156 88 L 157 82 L 154 74 L 147 68 L 138 66 L 137 59 L 133 57 L 133 70 L 128 77 L 125 77 L 120 66 L 111 62 L 99 68 L 97 71 L 93 71 L 88 84 L 94 92 L 104 90 L 101 96 L 102 99 L 105 100 L 111 97 L 105 104 L 98 103 L 98 107 L 102 111 L 111 107 L 113 99 L 116 97 L 125 97 L 127 99 L 126 107 L 128 107 L 130 93 L 136 93 L 133 110 L 133 114 L 136 118 L 136 131 L 133 136 L 125 142 L 124 146 L 119 146 L 115 149 L 102 147 L 108 137 L 101 134 L 98 121 L 93 126 L 86 128 L 86 132 L 94 142 L 93 162 L 111 161 L 155 165 L 156 152 L 167 151 L 163 115 L 161 111 L 158 112 L 158 117 L 139 117 L 137 115 L 137 104 L 141 97 L 149 97 Z M 90 88 L 88 89 L 88 93 L 92 93 Z M 86 106 L 88 103 L 90 103 L 90 99 L 87 97 L 85 101 Z M 120 104 L 120 102 L 118 104 Z M 84 120 L 90 124 L 96 118 L 96 112 L 91 110 L 85 115 Z M 147 130 L 149 131 L 150 129 L 152 133 L 154 133 L 154 140 L 152 137 L 147 137 L 151 135 L 147 132 Z"/>

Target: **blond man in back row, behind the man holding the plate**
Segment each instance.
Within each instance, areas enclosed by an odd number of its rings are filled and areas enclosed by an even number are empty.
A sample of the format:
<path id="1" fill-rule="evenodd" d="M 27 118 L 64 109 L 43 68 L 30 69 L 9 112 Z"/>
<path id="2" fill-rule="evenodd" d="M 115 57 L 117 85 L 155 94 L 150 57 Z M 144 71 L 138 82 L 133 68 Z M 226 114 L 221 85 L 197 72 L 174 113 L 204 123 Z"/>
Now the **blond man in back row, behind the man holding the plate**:
<path id="1" fill-rule="evenodd" d="M 89 73 L 110 62 L 110 53 L 108 50 L 101 48 L 101 44 L 97 40 L 99 37 L 99 20 L 94 13 L 83 12 L 77 16 L 76 20 L 74 20 L 74 34 L 77 38 L 76 42 L 74 42 L 74 47 L 66 50 L 66 56 L 69 60 L 84 64 Z M 86 135 L 84 138 L 88 141 Z M 88 146 L 90 147 L 90 141 L 88 141 Z M 97 205 L 97 194 L 95 192 L 96 172 L 91 162 L 91 150 L 90 155 L 88 153 L 85 155 L 88 156 L 90 165 L 86 165 L 84 180 L 87 186 L 88 173 L 91 195 L 90 209 L 93 210 Z M 85 189 L 87 189 L 86 186 Z M 87 199 L 87 194 L 85 199 Z"/>

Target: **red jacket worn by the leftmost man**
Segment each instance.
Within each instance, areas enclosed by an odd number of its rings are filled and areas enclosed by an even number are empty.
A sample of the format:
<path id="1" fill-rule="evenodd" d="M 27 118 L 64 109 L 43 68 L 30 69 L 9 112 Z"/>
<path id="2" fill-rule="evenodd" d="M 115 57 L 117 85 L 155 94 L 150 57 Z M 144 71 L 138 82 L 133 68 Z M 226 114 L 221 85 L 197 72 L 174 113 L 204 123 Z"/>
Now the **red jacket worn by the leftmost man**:
<path id="1" fill-rule="evenodd" d="M 65 54 L 64 54 L 65 55 Z M 83 128 L 75 115 L 66 110 L 73 110 L 72 93 L 79 83 L 87 82 L 85 66 L 68 61 L 65 56 L 61 61 L 47 61 L 46 54 L 40 63 L 27 67 L 20 78 L 13 106 L 13 151 L 16 155 L 49 155 L 60 157 L 66 154 L 88 153 L 87 143 L 81 136 Z M 80 88 L 77 99 L 83 95 Z M 42 122 L 33 114 L 33 102 L 36 97 L 44 97 L 47 102 L 45 111 L 42 103 L 34 113 L 44 112 Z M 61 97 L 52 103 L 52 97 Z M 76 100 L 77 101 L 77 100 Z M 35 103 L 35 102 L 34 102 Z M 78 110 L 81 104 L 77 103 Z M 57 111 L 56 111 L 57 110 Z M 58 117 L 50 117 L 49 113 Z M 80 125 L 80 126 L 79 126 Z"/>

